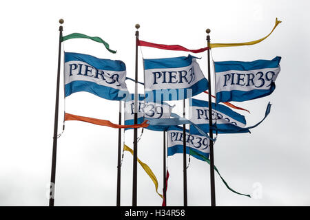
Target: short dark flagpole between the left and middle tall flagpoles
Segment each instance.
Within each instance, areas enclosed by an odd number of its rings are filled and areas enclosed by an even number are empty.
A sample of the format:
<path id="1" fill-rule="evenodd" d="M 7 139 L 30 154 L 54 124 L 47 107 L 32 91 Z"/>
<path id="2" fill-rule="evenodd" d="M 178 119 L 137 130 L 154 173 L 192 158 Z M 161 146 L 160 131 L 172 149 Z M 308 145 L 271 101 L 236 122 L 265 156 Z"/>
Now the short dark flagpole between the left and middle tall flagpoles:
<path id="1" fill-rule="evenodd" d="M 122 102 L 119 101 L 118 124 L 122 124 Z M 118 129 L 118 152 L 117 152 L 117 192 L 116 206 L 121 206 L 121 135 L 122 129 Z"/>

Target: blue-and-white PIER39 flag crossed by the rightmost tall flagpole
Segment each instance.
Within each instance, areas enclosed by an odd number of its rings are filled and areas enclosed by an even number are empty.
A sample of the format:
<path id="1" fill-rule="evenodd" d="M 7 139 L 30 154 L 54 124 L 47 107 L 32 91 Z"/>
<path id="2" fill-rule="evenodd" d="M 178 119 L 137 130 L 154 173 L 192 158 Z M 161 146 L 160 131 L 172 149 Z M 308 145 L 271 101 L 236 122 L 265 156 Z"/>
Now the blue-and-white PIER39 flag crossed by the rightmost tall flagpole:
<path id="1" fill-rule="evenodd" d="M 196 124 L 205 132 L 209 132 L 209 102 L 191 99 L 190 121 Z M 236 113 L 223 104 L 211 103 L 212 106 L 212 124 L 218 133 L 245 133 L 247 129 L 242 129 L 247 124 L 245 116 Z M 197 132 L 196 127 L 191 125 L 191 131 Z"/>

